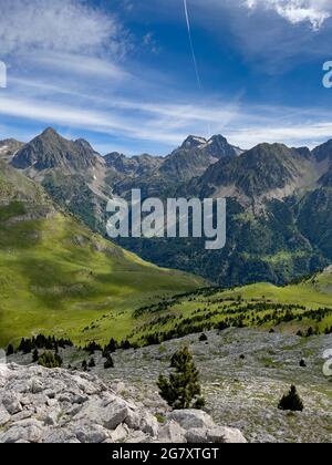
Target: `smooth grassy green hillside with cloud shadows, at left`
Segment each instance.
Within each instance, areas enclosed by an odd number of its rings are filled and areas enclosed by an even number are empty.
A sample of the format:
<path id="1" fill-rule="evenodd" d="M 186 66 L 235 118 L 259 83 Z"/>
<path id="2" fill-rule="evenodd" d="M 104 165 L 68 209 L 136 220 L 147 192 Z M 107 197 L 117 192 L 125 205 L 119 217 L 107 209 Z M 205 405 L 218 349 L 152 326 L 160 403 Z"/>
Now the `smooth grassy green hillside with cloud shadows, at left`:
<path id="1" fill-rule="evenodd" d="M 137 307 L 204 285 L 92 234 L 2 162 L 0 198 L 0 345 L 38 332 L 121 339 Z"/>

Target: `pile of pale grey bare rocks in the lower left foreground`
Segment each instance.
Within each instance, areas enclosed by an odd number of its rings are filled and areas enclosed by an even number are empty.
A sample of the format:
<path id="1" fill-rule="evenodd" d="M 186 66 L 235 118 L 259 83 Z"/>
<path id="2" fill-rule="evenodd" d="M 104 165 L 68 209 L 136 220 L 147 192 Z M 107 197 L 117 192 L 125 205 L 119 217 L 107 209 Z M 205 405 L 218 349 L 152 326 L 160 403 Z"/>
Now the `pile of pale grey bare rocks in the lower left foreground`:
<path id="1" fill-rule="evenodd" d="M 165 424 L 97 376 L 41 366 L 0 369 L 0 443 L 245 443 L 204 412 L 172 412 Z"/>

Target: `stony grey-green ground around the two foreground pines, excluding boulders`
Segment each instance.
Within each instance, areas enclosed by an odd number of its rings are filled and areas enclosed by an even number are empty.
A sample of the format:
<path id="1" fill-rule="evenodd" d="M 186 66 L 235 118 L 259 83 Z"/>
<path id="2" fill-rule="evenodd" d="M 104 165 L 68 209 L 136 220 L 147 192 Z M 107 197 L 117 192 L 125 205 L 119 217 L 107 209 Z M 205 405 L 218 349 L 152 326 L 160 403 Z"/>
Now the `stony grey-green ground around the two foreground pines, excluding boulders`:
<path id="1" fill-rule="evenodd" d="M 156 380 L 165 373 L 177 348 L 189 345 L 201 373 L 207 410 L 217 423 L 238 427 L 249 442 L 332 442 L 332 379 L 323 374 L 323 352 L 332 349 L 331 335 L 299 338 L 253 329 L 228 329 L 152 345 L 117 351 L 115 368 L 105 371 L 100 353 L 92 372 L 117 383 L 122 395 L 134 396 L 163 416 L 167 407 L 157 393 Z M 73 349 L 65 364 L 81 366 L 89 356 Z M 31 355 L 14 355 L 25 361 Z M 307 368 L 300 368 L 304 359 Z M 116 381 L 118 380 L 118 381 Z M 283 393 L 295 384 L 305 410 L 290 414 L 277 409 Z M 134 386 L 134 388 L 128 388 Z"/>

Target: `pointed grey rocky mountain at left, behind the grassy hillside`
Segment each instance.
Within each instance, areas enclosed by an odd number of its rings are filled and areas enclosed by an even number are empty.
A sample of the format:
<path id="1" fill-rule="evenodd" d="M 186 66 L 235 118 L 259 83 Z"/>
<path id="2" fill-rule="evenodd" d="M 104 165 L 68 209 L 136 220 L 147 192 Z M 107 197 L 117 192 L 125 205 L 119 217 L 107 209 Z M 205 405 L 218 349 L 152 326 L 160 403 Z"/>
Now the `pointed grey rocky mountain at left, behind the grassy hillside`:
<path id="1" fill-rule="evenodd" d="M 89 227 L 105 230 L 106 165 L 89 142 L 69 141 L 52 127 L 21 147 L 11 166 L 42 184 L 62 208 Z"/>

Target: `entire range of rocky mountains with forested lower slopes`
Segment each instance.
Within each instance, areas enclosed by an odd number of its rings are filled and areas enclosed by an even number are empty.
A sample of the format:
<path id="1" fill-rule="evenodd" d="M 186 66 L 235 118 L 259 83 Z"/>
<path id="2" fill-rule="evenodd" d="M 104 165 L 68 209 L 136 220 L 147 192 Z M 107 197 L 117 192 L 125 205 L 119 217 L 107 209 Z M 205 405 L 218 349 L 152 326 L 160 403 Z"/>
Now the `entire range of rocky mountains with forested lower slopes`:
<path id="1" fill-rule="evenodd" d="M 111 193 L 126 197 L 141 188 L 143 197 L 228 198 L 227 246 L 220 251 L 206 251 L 199 239 L 118 240 L 156 265 L 237 286 L 283 285 L 331 262 L 332 141 L 313 151 L 266 143 L 242 151 L 221 135 L 189 136 L 165 158 L 103 157 L 86 141 L 66 141 L 48 128 L 13 147 L 7 163 L 101 234 Z"/>

